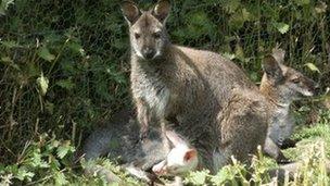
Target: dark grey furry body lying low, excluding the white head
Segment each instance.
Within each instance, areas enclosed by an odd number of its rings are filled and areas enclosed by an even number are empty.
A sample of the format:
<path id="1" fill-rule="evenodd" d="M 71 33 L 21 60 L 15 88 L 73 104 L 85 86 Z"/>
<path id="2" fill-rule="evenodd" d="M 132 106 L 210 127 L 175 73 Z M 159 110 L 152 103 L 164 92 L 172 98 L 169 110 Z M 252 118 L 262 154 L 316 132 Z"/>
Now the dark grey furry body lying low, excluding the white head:
<path id="1" fill-rule="evenodd" d="M 125 164 L 136 176 L 151 181 L 151 174 L 144 172 L 166 158 L 167 149 L 156 128 L 151 129 L 143 144 L 139 140 L 140 126 L 135 122 L 131 111 L 123 110 L 114 115 L 105 126 L 99 127 L 86 139 L 82 151 L 86 160 L 107 157 Z M 119 159 L 118 159 L 119 158 Z M 86 169 L 86 174 L 98 172 L 107 182 L 119 182 L 110 170 L 97 165 Z"/>

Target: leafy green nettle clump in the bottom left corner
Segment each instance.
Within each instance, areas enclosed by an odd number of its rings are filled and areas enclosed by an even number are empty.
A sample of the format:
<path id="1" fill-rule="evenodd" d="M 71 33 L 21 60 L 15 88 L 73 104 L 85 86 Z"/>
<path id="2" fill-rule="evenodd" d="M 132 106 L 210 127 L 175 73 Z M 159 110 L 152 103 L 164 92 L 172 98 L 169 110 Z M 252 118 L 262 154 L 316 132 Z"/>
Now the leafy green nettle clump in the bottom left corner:
<path id="1" fill-rule="evenodd" d="M 39 140 L 25 144 L 15 164 L 0 168 L 1 184 L 67 184 L 74 151 L 69 140 L 41 134 Z"/>

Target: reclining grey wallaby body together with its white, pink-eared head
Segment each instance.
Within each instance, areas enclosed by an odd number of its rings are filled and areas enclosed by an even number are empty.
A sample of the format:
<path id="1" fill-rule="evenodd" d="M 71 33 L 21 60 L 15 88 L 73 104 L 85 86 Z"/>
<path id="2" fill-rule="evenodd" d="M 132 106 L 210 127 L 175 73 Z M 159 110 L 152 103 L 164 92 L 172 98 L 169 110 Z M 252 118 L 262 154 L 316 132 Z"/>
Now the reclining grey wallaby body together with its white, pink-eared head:
<path id="1" fill-rule="evenodd" d="M 139 141 L 139 125 L 131 120 L 132 113 L 123 110 L 114 115 L 106 125 L 97 128 L 86 140 L 82 152 L 86 160 L 93 160 L 102 156 L 124 164 L 126 170 L 147 182 L 152 182 L 155 175 L 148 171 L 154 171 L 162 175 L 180 176 L 194 170 L 198 165 L 198 153 L 188 140 L 174 131 L 166 131 L 170 144 L 170 151 L 164 148 L 158 129 L 151 128 L 143 144 Z M 166 172 L 165 172 L 166 171 Z M 98 173 L 110 183 L 120 182 L 113 172 L 100 165 L 86 169 L 86 174 Z"/>

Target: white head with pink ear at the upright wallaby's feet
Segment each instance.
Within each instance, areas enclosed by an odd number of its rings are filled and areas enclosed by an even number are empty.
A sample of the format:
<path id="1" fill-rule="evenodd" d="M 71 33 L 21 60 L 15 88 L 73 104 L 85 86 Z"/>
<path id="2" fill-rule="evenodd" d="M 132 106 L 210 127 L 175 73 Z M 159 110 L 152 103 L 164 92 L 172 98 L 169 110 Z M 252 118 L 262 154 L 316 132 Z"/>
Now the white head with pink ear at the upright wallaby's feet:
<path id="1" fill-rule="evenodd" d="M 189 147 L 189 144 L 172 131 L 166 132 L 173 149 L 168 152 L 166 160 L 154 165 L 152 171 L 160 175 L 180 175 L 196 169 L 198 151 Z"/>

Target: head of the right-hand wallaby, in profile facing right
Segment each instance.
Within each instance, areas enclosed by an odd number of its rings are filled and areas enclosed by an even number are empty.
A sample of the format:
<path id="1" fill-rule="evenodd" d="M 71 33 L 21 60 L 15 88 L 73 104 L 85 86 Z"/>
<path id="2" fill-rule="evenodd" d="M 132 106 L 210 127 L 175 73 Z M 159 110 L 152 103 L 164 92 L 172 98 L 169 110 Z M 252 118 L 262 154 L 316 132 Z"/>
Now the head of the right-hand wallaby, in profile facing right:
<path id="1" fill-rule="evenodd" d="M 292 101 L 315 94 L 316 83 L 292 67 L 282 64 L 284 51 L 275 49 L 264 59 L 261 90 L 275 96 L 274 101 Z"/>

